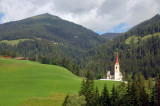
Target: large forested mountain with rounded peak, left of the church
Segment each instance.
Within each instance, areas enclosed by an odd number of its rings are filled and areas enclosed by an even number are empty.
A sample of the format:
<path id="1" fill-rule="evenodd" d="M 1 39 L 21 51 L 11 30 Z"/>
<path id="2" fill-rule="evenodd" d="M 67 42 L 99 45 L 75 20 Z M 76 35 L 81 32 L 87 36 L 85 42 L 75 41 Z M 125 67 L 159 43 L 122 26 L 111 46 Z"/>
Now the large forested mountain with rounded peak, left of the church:
<path id="1" fill-rule="evenodd" d="M 1 51 L 16 50 L 20 56 L 75 58 L 105 40 L 81 25 L 46 13 L 0 25 L 0 42 Z"/>

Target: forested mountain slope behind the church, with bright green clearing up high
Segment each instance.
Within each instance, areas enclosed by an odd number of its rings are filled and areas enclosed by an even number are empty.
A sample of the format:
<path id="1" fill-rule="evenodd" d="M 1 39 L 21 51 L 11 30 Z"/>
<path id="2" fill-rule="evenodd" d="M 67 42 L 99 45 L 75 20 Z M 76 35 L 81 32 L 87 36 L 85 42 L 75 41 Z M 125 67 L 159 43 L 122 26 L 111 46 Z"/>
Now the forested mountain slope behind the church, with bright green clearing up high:
<path id="1" fill-rule="evenodd" d="M 85 68 L 92 70 L 97 78 L 106 77 L 107 71 L 114 71 L 117 51 L 124 78 L 138 72 L 143 73 L 146 79 L 160 74 L 160 15 L 92 49 L 86 56 Z"/>

